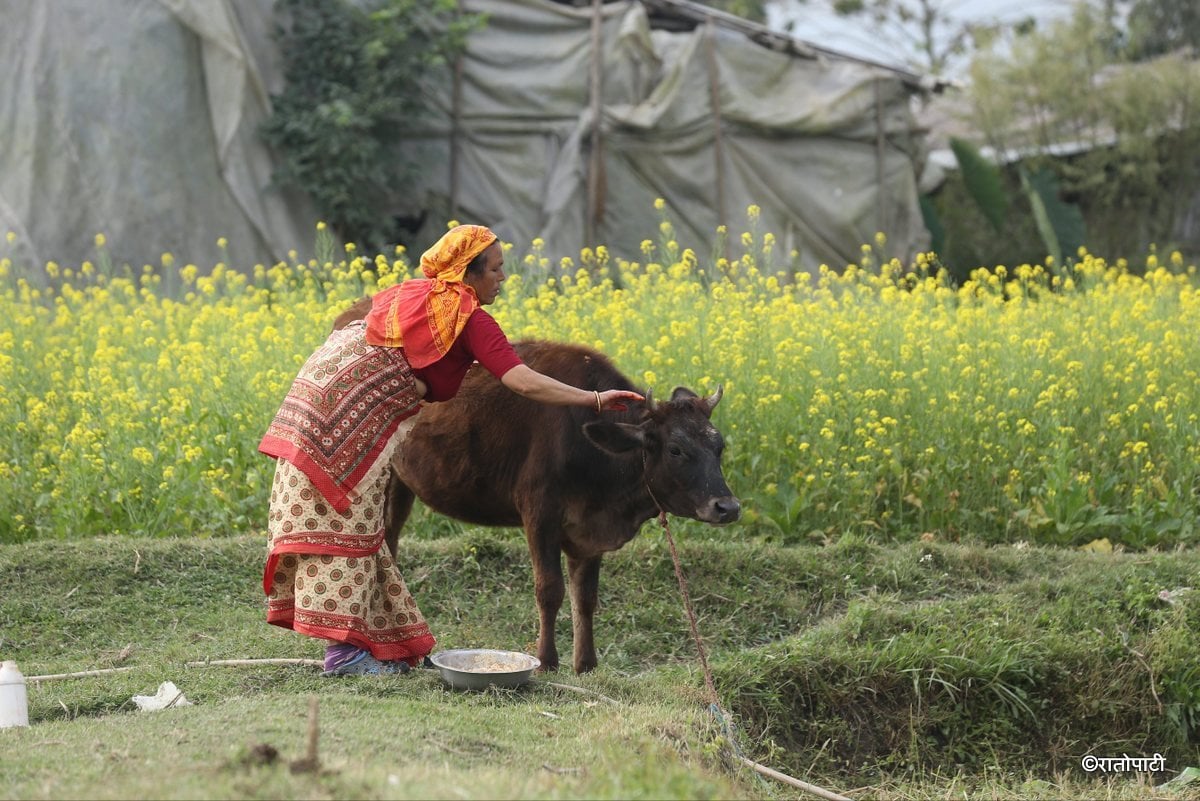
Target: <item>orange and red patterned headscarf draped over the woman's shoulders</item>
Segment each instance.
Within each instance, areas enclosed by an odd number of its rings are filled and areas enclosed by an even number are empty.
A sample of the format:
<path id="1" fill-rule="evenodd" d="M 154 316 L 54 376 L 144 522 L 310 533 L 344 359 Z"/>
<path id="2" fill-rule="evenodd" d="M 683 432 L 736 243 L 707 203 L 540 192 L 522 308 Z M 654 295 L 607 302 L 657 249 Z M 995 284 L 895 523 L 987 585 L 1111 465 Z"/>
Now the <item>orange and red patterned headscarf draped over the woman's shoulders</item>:
<path id="1" fill-rule="evenodd" d="M 482 225 L 448 230 L 421 255 L 425 278 L 396 284 L 372 299 L 367 343 L 403 348 L 418 369 L 445 356 L 479 308 L 475 290 L 462 282 L 467 265 L 496 239 Z"/>

